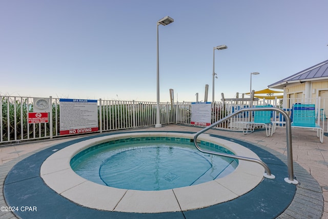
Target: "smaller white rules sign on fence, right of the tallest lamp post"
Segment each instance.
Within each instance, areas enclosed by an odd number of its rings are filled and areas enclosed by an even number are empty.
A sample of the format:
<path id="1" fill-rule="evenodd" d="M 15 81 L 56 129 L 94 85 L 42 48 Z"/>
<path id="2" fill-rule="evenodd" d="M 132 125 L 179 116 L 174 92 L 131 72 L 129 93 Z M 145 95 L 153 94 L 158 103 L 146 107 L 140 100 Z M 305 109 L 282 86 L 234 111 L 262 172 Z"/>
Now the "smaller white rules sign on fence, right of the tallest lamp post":
<path id="1" fill-rule="evenodd" d="M 211 125 L 211 102 L 191 103 L 191 124 L 199 126 Z"/>

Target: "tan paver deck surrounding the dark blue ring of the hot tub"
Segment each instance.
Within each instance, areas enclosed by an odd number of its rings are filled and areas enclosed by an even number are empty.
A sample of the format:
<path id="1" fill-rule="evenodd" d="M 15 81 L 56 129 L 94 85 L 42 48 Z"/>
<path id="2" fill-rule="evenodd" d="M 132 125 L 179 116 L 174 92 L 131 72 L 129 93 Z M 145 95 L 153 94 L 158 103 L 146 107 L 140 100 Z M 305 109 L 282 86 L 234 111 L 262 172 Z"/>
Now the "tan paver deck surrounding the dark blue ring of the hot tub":
<path id="1" fill-rule="evenodd" d="M 167 125 L 163 126 L 162 128 L 151 127 L 137 130 L 197 132 L 198 130 L 200 130 L 200 128 L 182 125 Z M 243 135 L 242 132 L 231 132 L 212 129 L 209 130 L 207 133 L 224 135 L 227 137 L 254 144 L 256 146 L 263 146 L 264 149 L 273 150 L 277 154 L 281 154 L 281 157 L 285 157 L 287 155 L 285 129 L 278 127 L 272 137 L 266 137 L 264 132 L 265 131 L 256 131 L 254 133 Z M 322 191 L 320 192 L 322 192 L 324 199 L 324 209 L 321 218 L 328 219 L 328 137 L 324 136 L 324 143 L 321 144 L 319 139 L 316 137 L 315 131 L 294 128 L 292 129 L 292 135 L 294 161 L 306 171 L 308 171 L 312 175 L 312 177 L 315 178 L 315 180 L 319 183 L 322 189 Z M 43 150 L 52 145 L 59 144 L 61 142 L 66 142 L 72 139 L 73 138 L 60 138 L 51 141 L 34 142 L 29 144 L 20 144 L 0 148 L 0 165 L 2 167 L 0 172 L 1 190 L 3 191 L 3 182 L 5 180 L 5 177 L 11 167 L 14 166 L 14 164 L 19 162 L 20 160 L 23 160 L 23 158 L 35 153 L 36 151 Z M 296 177 L 301 177 L 301 174 L 297 171 L 298 169 L 295 166 L 294 172 Z M 302 183 L 302 185 L 298 185 L 300 191 L 302 186 L 305 184 L 306 183 Z M 311 182 L 309 184 L 311 184 Z M 318 215 L 321 215 L 322 210 L 318 209 L 320 208 L 320 205 L 316 205 L 316 198 L 317 197 L 311 197 L 311 195 L 309 194 L 296 195 L 293 201 L 293 208 L 287 209 L 285 211 L 285 214 L 282 214 L 279 217 L 301 218 L 297 215 L 300 215 L 300 213 L 302 213 L 301 215 L 303 216 L 303 218 L 320 218 L 320 216 L 318 217 Z M 320 198 L 317 199 L 317 201 L 319 202 Z M 311 206 L 312 204 L 313 208 Z M 6 206 L 3 194 L 0 195 L 0 206 Z M 304 206 L 308 208 L 305 214 L 304 212 L 302 212 Z M 15 218 L 15 216 L 10 212 L 0 211 L 0 218 Z"/>

